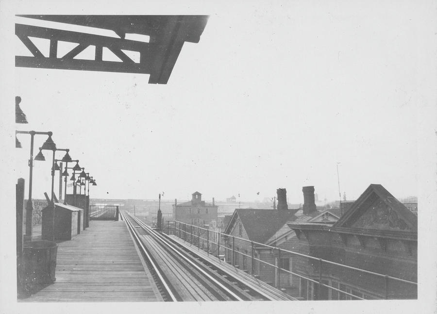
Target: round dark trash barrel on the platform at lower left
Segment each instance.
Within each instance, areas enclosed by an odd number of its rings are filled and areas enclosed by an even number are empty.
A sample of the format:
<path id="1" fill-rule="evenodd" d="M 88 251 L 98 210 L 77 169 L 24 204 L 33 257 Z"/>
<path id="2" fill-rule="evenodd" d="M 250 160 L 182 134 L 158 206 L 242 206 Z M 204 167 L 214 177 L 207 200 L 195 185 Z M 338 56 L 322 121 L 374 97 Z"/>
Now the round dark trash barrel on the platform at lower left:
<path id="1" fill-rule="evenodd" d="M 56 281 L 58 246 L 51 241 L 32 241 L 23 246 L 25 293 L 33 294 Z"/>

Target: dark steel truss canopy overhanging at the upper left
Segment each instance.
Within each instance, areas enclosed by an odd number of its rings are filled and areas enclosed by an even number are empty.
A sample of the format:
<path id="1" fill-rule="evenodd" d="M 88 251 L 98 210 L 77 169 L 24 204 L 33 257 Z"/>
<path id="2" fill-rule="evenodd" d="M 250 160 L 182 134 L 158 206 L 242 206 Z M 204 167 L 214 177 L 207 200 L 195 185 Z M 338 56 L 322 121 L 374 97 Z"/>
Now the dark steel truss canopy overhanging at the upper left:
<path id="1" fill-rule="evenodd" d="M 33 54 L 16 56 L 15 66 L 85 71 L 150 74 L 149 83 L 166 84 L 184 42 L 198 43 L 208 16 L 122 16 L 122 15 L 17 15 L 52 22 L 68 23 L 114 31 L 120 38 L 15 24 L 15 34 Z M 126 33 L 148 35 L 149 42 L 125 39 Z M 50 40 L 46 57 L 29 37 Z M 58 57 L 58 42 L 76 43 L 77 46 Z M 89 46 L 95 46 L 93 60 L 75 59 Z M 109 49 L 121 61 L 102 60 L 103 48 Z M 139 52 L 134 62 L 122 50 Z"/>

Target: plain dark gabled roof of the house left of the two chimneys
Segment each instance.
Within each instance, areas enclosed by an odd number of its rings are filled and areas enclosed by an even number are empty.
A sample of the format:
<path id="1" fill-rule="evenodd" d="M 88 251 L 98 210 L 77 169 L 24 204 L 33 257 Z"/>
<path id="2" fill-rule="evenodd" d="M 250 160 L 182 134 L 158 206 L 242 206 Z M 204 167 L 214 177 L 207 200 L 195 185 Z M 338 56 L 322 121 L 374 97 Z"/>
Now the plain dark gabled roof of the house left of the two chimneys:
<path id="1" fill-rule="evenodd" d="M 294 220 L 296 216 L 290 210 L 235 209 L 224 233 L 232 231 L 232 227 L 238 218 L 243 224 L 249 240 L 265 243 L 287 221 Z"/>

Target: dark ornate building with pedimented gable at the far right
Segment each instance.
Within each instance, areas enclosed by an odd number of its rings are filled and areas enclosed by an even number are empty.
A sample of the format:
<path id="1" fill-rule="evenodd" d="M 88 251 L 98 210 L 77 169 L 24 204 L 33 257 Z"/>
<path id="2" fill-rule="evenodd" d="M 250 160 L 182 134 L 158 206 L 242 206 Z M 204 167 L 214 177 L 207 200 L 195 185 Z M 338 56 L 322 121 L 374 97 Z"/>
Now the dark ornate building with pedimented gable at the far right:
<path id="1" fill-rule="evenodd" d="M 349 210 L 333 225 L 289 222 L 288 227 L 309 245 L 306 254 L 417 282 L 417 216 L 382 185 L 370 184 Z M 395 281 L 336 264 L 306 258 L 302 275 L 356 297 L 417 298 L 417 285 Z M 307 299 L 353 299 L 307 280 L 301 280 L 301 295 Z"/>

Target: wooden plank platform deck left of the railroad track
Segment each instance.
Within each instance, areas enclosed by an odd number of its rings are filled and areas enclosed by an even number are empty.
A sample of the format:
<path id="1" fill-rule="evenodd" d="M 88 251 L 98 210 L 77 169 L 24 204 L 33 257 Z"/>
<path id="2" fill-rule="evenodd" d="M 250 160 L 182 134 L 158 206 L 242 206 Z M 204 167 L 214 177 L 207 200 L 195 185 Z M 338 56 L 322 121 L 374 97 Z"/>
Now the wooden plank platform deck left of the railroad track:
<path id="1" fill-rule="evenodd" d="M 20 302 L 162 301 L 124 221 L 90 221 L 58 243 L 56 281 Z"/>

